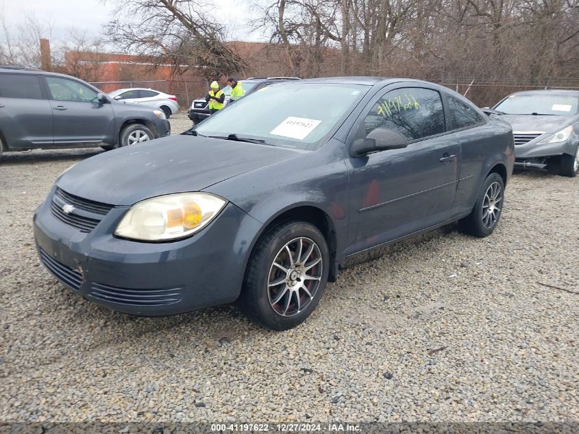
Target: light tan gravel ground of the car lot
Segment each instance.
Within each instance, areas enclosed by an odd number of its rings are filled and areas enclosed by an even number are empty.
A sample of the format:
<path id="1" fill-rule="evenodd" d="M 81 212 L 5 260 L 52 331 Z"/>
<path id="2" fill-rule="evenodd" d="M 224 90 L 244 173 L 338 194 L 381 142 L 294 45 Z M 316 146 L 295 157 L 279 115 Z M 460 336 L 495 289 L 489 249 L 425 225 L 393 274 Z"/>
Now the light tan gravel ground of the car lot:
<path id="1" fill-rule="evenodd" d="M 234 306 L 114 313 L 40 265 L 34 209 L 98 152 L 0 163 L 0 422 L 579 421 L 579 179 L 516 175 L 491 237 L 388 248 L 276 333 Z"/>

